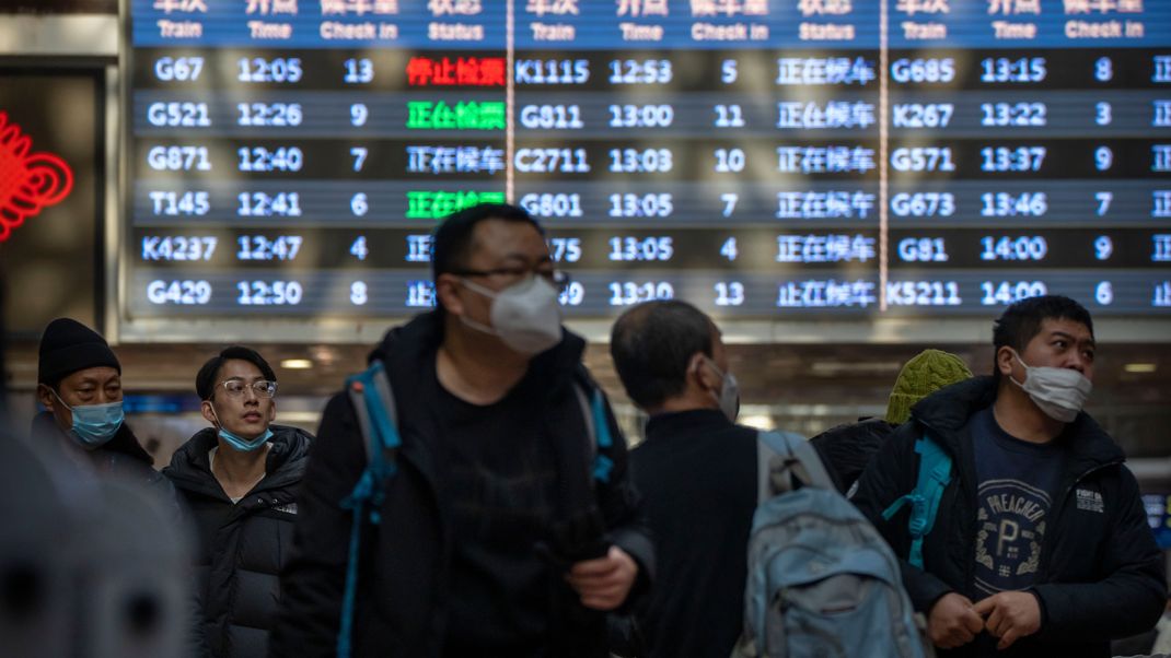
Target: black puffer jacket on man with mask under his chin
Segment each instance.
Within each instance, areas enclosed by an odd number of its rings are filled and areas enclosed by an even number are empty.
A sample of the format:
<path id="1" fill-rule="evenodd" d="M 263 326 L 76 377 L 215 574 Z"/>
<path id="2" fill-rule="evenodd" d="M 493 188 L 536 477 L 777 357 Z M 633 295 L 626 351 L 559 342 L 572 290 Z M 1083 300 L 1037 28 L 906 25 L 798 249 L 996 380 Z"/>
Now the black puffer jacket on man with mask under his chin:
<path id="1" fill-rule="evenodd" d="M 197 596 L 217 658 L 262 658 L 276 617 L 279 575 L 293 546 L 295 493 L 313 436 L 282 425 L 272 430 L 265 478 L 237 504 L 211 472 L 213 428 L 191 437 L 163 471 L 199 531 Z"/>

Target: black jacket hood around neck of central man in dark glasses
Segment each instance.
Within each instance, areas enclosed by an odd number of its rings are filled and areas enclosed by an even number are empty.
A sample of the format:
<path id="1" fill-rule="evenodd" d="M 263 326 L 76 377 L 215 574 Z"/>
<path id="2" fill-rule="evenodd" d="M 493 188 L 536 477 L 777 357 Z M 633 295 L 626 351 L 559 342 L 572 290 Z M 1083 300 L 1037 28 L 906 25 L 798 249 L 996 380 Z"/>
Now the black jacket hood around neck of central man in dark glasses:
<path id="1" fill-rule="evenodd" d="M 431 356 L 439 349 L 444 337 L 444 319 L 438 311 L 415 317 L 405 325 L 386 332 L 382 344 L 370 352 L 369 360 L 381 360 L 386 366 L 391 378 L 396 399 L 399 404 L 412 401 L 412 392 L 418 389 L 415 380 L 422 368 L 429 367 Z M 586 352 L 586 339 L 561 330 L 561 342 L 533 356 L 529 361 L 530 374 L 553 383 L 549 393 L 561 390 L 561 386 L 571 383 L 573 374 L 581 367 L 582 354 Z"/>

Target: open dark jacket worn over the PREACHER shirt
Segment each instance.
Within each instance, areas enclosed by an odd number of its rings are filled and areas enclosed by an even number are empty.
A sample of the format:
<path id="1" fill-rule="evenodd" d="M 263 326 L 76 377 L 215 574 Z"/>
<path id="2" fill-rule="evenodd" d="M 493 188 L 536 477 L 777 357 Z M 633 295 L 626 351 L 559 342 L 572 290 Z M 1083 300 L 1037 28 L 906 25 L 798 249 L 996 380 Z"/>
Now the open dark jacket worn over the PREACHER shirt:
<path id="1" fill-rule="evenodd" d="M 867 467 L 854 497 L 905 560 L 909 511 L 890 521 L 882 513 L 915 489 L 919 464 L 915 441 L 925 430 L 951 453 L 953 477 L 934 528 L 924 540 L 925 570 L 903 562 L 903 582 L 916 610 L 924 614 L 949 591 L 979 598 L 973 587 L 979 483 L 968 422 L 974 413 L 992 406 L 995 395 L 991 378 L 975 378 L 920 401 L 911 409 L 911 422 L 899 425 Z M 1163 555 L 1146 524 L 1138 484 L 1123 465 L 1122 450 L 1084 413 L 1055 441 L 1066 458 L 1032 588 L 1041 602 L 1041 630 L 1007 651 L 998 652 L 995 642 L 981 633 L 975 642 L 940 656 L 1107 657 L 1111 638 L 1142 632 L 1158 621 L 1166 603 Z M 1104 510 L 1081 510 L 1074 504 L 1075 489 L 1101 494 Z"/>

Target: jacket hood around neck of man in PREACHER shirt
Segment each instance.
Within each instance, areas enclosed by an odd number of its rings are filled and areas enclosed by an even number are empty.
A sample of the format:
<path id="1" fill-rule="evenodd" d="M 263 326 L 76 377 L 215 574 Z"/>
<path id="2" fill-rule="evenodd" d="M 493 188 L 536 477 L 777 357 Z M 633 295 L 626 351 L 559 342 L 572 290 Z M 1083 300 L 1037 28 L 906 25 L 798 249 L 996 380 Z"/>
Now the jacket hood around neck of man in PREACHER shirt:
<path id="1" fill-rule="evenodd" d="M 920 400 L 911 408 L 911 418 L 933 430 L 952 455 L 960 455 L 961 428 L 980 409 L 997 401 L 997 382 L 991 376 L 972 378 L 953 383 Z M 1124 460 L 1122 449 L 1105 430 L 1087 414 L 1077 414 L 1074 422 L 1054 439 L 1064 448 L 1071 462 L 1068 467 L 1084 471 Z"/>

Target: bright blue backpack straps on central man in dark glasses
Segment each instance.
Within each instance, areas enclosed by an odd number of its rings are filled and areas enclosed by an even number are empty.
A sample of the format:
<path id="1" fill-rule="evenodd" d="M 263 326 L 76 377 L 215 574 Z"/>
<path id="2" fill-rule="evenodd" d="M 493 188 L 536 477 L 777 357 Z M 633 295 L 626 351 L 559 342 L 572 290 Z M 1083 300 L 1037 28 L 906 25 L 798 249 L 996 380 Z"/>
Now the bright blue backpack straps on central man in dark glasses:
<path id="1" fill-rule="evenodd" d="M 354 490 L 341 501 L 344 510 L 354 513 L 350 526 L 350 547 L 345 566 L 345 590 L 342 595 L 341 624 L 337 631 L 337 658 L 352 654 L 354 607 L 358 587 L 358 559 L 361 557 L 362 527 L 365 522 L 378 525 L 379 510 L 385 500 L 385 484 L 398 470 L 398 449 L 403 441 L 398 434 L 395 416 L 395 396 L 390 378 L 382 361 L 374 361 L 365 370 L 345 380 L 345 390 L 367 452 L 367 466 L 358 477 Z M 594 480 L 605 484 L 610 480 L 614 460 L 605 455 L 614 445 L 610 425 L 605 416 L 605 401 L 596 388 L 593 395 L 575 382 L 574 393 L 582 407 L 586 430 L 594 445 Z"/>

